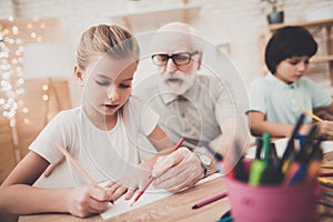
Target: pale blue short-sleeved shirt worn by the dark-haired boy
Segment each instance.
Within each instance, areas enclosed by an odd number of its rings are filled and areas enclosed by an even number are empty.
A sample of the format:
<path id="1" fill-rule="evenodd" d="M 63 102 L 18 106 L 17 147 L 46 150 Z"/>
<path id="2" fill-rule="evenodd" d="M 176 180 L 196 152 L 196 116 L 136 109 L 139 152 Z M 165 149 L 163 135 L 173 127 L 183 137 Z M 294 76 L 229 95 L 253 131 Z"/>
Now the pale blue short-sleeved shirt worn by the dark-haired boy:
<path id="1" fill-rule="evenodd" d="M 251 108 L 249 111 L 260 111 L 268 122 L 294 124 L 302 109 L 329 107 L 333 100 L 319 85 L 306 77 L 286 84 L 272 73 L 253 80 L 249 89 Z M 305 117 L 304 124 L 312 123 Z"/>

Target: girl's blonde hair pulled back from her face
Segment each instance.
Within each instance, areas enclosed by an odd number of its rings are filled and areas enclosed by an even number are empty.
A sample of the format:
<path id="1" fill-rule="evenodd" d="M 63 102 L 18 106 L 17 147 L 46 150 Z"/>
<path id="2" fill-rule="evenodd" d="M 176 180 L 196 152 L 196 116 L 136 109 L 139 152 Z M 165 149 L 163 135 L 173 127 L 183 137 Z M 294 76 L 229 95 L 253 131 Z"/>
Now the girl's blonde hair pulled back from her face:
<path id="1" fill-rule="evenodd" d="M 108 54 L 112 59 L 139 59 L 140 49 L 131 32 L 118 26 L 99 24 L 83 32 L 77 49 L 77 62 L 81 70 L 89 63 Z"/>

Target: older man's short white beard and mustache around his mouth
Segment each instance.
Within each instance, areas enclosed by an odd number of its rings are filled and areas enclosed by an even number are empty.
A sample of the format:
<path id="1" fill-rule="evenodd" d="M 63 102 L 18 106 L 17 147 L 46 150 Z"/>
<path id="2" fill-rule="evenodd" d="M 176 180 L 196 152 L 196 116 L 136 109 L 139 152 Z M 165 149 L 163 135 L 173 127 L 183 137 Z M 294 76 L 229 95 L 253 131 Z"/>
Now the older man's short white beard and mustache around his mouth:
<path id="1" fill-rule="evenodd" d="M 173 80 L 173 81 L 172 81 Z M 181 71 L 163 73 L 163 83 L 173 93 L 184 94 L 194 84 L 195 74 L 184 74 Z"/>

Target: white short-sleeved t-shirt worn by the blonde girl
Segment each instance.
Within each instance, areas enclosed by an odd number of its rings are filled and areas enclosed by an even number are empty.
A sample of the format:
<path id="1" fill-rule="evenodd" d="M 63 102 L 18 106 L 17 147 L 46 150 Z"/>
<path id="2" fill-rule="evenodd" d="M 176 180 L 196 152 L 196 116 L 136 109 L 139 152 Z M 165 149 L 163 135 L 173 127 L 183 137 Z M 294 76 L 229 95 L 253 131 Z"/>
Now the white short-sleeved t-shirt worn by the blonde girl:
<path id="1" fill-rule="evenodd" d="M 61 157 L 59 142 L 97 182 L 117 180 L 140 163 L 140 135 L 149 135 L 159 117 L 134 97 L 118 112 L 115 127 L 103 131 L 93 125 L 82 107 L 61 111 L 42 130 L 29 149 L 50 163 Z M 68 161 L 78 185 L 89 181 Z"/>

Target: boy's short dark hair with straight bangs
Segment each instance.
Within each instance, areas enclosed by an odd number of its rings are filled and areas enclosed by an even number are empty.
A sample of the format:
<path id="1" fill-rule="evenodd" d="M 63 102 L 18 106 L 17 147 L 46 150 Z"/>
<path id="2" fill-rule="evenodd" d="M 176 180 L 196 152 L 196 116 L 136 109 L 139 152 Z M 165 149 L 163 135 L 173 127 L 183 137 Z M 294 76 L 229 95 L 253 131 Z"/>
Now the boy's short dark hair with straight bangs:
<path id="1" fill-rule="evenodd" d="M 302 27 L 284 27 L 278 29 L 270 39 L 265 50 L 265 62 L 272 74 L 278 64 L 292 57 L 312 57 L 317 43 L 311 33 Z"/>

